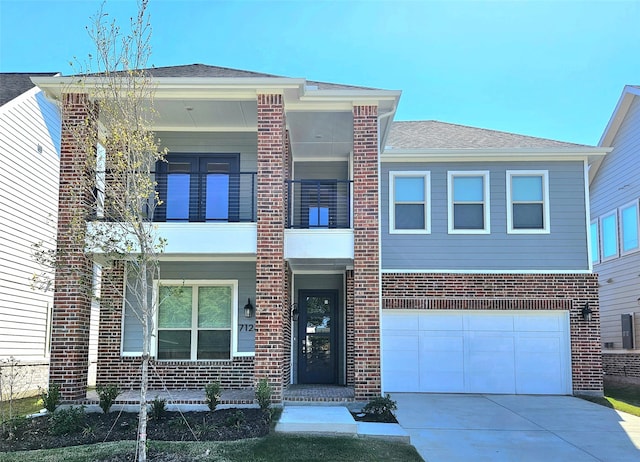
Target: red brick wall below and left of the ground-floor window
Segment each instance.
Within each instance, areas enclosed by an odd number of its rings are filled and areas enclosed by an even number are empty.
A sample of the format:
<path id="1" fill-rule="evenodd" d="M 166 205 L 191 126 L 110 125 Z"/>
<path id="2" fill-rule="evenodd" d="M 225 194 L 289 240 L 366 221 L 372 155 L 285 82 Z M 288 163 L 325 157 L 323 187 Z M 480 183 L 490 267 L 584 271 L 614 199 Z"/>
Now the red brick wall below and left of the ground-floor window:
<path id="1" fill-rule="evenodd" d="M 140 357 L 122 357 L 124 265 L 115 262 L 102 273 L 97 384 L 118 384 L 123 389 L 140 386 Z M 253 386 L 253 358 L 229 361 L 155 361 L 149 370 L 151 389 L 198 389 L 220 382 L 227 390 Z"/>

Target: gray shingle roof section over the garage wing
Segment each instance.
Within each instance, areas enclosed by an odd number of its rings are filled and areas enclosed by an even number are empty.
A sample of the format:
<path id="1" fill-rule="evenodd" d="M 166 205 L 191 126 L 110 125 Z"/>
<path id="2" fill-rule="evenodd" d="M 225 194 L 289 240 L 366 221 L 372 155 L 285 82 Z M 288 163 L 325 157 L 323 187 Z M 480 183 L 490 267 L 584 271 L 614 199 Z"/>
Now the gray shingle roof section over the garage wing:
<path id="1" fill-rule="evenodd" d="M 386 149 L 579 148 L 581 144 L 449 124 L 437 120 L 394 122 Z"/>

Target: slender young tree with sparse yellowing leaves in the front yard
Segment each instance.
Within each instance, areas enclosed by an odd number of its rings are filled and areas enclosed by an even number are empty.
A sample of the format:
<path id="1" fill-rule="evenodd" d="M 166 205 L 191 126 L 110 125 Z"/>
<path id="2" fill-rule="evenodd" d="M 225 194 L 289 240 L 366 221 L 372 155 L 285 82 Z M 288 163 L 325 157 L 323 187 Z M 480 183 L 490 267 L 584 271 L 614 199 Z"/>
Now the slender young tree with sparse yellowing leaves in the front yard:
<path id="1" fill-rule="evenodd" d="M 79 217 L 73 233 L 84 240 L 88 253 L 99 253 L 106 261 L 126 262 L 129 296 L 125 303 L 142 326 L 140 461 L 147 456 L 146 402 L 157 309 L 151 284 L 159 279 L 158 257 L 165 245 L 152 221 L 160 204 L 153 173 L 164 151 L 152 131 L 154 86 L 145 70 L 151 54 L 148 2 L 138 0 L 137 14 L 126 33 L 109 18 L 103 3 L 87 27 L 96 54 L 81 66 L 68 90 L 88 94 L 89 104 L 95 105 L 87 111 L 92 116 L 84 126 L 68 127 L 77 132 L 78 142 L 86 143 L 85 152 L 95 153 L 88 156 L 90 173 L 82 191 L 92 198 L 92 216 Z"/>

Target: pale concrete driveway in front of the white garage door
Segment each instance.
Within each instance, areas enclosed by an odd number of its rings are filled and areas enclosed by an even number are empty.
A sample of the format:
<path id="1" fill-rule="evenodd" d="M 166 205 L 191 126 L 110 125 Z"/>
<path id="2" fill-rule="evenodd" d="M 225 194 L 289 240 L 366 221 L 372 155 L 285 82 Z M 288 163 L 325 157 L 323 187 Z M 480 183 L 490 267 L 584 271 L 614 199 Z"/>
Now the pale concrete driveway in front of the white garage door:
<path id="1" fill-rule="evenodd" d="M 638 462 L 640 417 L 571 396 L 393 393 L 426 462 Z"/>

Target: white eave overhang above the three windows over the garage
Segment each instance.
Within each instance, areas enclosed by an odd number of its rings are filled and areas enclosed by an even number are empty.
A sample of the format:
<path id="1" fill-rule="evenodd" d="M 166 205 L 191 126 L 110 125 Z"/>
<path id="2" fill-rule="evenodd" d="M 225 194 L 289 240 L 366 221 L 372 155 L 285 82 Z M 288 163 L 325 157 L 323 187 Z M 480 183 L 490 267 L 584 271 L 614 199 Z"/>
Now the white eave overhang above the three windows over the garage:
<path id="1" fill-rule="evenodd" d="M 595 161 L 611 148 L 387 149 L 383 162 Z"/>

